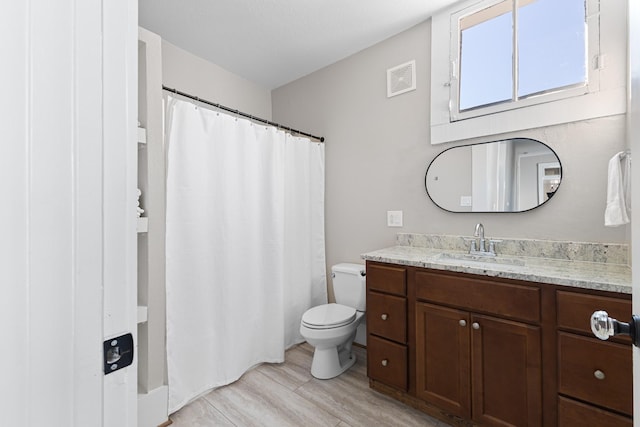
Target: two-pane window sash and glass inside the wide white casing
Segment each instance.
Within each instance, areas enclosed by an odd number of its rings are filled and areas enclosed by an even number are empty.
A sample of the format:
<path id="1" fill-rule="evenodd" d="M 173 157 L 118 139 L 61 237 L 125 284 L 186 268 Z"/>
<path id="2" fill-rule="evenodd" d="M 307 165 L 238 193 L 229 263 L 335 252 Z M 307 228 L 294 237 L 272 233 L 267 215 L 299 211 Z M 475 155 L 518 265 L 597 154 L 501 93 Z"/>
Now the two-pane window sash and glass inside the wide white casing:
<path id="1" fill-rule="evenodd" d="M 587 91 L 585 0 L 504 0 L 454 14 L 452 27 L 454 120 Z"/>

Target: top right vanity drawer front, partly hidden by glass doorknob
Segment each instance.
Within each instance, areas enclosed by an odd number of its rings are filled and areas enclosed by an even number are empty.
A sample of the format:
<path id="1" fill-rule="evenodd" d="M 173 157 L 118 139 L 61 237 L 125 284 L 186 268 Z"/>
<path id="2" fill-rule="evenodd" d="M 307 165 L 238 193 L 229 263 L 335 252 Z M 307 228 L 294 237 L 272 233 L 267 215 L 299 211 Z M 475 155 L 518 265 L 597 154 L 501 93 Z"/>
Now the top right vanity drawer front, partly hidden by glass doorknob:
<path id="1" fill-rule="evenodd" d="M 558 291 L 556 305 L 559 328 L 585 332 L 589 335 L 591 335 L 591 315 L 596 310 L 605 310 L 609 316 L 621 322 L 628 322 L 631 319 L 631 301 L 620 298 Z M 628 337 L 624 339 L 626 342 L 631 342 Z"/>

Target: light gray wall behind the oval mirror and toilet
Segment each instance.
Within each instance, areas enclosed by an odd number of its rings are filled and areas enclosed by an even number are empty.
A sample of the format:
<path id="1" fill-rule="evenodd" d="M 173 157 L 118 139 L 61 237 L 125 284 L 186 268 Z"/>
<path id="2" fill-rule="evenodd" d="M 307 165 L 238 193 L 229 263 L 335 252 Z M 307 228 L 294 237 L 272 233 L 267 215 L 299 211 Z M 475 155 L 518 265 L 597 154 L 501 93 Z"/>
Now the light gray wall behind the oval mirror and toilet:
<path id="1" fill-rule="evenodd" d="M 275 121 L 326 137 L 327 264 L 362 262 L 361 253 L 393 245 L 397 232 L 471 235 L 477 222 L 484 223 L 488 237 L 628 243 L 629 227 L 603 225 L 607 163 L 625 148 L 624 116 L 493 138 L 530 137 L 558 154 L 564 179 L 541 208 L 454 214 L 429 200 L 426 168 L 456 145 L 429 142 L 430 25 L 424 22 L 272 92 Z M 411 59 L 417 90 L 387 98 L 386 70 Z M 387 210 L 403 210 L 404 227 L 387 227 Z"/>

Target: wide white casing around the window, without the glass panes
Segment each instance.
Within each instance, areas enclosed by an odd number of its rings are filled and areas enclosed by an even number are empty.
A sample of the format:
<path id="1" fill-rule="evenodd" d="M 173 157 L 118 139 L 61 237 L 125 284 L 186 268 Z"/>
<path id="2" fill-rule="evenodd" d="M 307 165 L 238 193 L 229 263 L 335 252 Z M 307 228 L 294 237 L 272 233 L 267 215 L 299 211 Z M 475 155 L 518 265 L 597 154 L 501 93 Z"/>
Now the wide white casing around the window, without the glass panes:
<path id="1" fill-rule="evenodd" d="M 624 2 L 606 0 L 587 0 L 586 86 L 459 112 L 459 19 L 496 3 L 498 0 L 467 0 L 432 19 L 432 144 L 626 112 L 627 8 Z"/>

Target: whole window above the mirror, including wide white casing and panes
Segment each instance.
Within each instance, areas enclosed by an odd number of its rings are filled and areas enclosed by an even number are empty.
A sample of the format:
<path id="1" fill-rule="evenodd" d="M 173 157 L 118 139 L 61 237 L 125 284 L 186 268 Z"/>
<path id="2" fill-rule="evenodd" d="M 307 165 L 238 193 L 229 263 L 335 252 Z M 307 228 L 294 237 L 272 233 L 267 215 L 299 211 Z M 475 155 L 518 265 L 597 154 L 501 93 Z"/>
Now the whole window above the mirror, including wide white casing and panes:
<path id="1" fill-rule="evenodd" d="M 626 112 L 626 2 L 461 0 L 431 31 L 432 144 Z"/>

